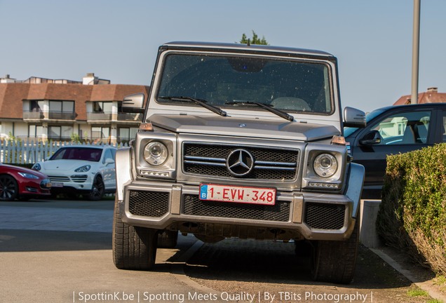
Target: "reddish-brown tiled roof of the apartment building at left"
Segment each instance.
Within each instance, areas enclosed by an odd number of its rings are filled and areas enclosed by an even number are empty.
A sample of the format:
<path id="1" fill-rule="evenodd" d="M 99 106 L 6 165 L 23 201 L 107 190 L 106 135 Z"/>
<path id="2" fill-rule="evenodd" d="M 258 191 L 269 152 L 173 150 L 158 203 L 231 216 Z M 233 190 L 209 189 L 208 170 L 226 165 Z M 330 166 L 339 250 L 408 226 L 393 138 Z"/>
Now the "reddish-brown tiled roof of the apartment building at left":
<path id="1" fill-rule="evenodd" d="M 86 120 L 88 101 L 122 101 L 148 92 L 149 86 L 125 84 L 0 83 L 0 119 L 22 119 L 23 100 L 67 100 L 75 102 L 76 119 Z"/>

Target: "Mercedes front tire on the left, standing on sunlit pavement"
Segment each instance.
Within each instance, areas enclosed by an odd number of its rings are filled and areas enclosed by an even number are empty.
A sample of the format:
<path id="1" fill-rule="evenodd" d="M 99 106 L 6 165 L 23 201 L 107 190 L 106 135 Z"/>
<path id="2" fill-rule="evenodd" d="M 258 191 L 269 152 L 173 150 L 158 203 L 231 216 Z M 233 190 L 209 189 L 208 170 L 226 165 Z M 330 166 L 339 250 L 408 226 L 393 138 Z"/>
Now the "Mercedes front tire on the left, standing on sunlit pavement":
<path id="1" fill-rule="evenodd" d="M 133 227 L 122 222 L 117 198 L 115 198 L 112 236 L 113 261 L 117 268 L 149 270 L 154 267 L 157 230 Z"/>

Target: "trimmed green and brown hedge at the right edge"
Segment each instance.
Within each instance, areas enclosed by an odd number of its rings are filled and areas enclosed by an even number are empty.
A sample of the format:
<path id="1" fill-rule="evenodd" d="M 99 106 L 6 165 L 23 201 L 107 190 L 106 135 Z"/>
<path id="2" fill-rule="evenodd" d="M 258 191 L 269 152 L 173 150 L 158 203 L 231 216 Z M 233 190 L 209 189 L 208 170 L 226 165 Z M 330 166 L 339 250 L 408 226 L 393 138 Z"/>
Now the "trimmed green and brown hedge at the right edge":
<path id="1" fill-rule="evenodd" d="M 387 157 L 377 231 L 446 274 L 446 144 Z"/>

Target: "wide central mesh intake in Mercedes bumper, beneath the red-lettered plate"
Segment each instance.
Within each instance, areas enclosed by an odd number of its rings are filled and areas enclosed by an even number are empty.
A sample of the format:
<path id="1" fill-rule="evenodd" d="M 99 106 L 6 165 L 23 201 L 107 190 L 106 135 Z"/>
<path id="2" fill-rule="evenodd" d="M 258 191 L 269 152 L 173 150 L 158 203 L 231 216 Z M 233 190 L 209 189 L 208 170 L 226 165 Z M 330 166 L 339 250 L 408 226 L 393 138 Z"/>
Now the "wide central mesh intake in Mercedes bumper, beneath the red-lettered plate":
<path id="1" fill-rule="evenodd" d="M 274 206 L 202 201 L 196 195 L 183 195 L 183 214 L 249 220 L 288 222 L 290 203 L 276 201 Z"/>

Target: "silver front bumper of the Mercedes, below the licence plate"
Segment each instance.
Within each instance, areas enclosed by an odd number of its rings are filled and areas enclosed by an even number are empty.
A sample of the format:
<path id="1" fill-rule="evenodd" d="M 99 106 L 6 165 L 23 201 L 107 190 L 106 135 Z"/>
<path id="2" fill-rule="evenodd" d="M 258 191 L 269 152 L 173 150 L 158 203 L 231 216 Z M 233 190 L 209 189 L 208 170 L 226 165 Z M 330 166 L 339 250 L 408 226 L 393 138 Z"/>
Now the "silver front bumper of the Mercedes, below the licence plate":
<path id="1" fill-rule="evenodd" d="M 123 222 L 210 237 L 344 240 L 358 203 L 346 195 L 300 191 L 278 191 L 275 206 L 201 201 L 198 186 L 153 181 L 131 182 L 123 192 Z"/>

